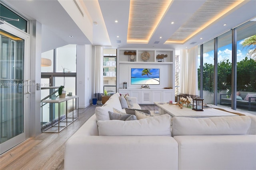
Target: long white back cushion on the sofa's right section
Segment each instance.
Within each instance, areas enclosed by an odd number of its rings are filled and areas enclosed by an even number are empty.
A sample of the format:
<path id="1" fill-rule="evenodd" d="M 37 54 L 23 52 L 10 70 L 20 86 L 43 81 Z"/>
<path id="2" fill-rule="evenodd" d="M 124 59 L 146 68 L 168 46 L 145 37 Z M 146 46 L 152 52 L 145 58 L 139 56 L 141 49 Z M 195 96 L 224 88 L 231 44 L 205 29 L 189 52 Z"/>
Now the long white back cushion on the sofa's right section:
<path id="1" fill-rule="evenodd" d="M 250 128 L 249 116 L 208 118 L 173 117 L 172 136 L 179 135 L 245 135 Z"/>

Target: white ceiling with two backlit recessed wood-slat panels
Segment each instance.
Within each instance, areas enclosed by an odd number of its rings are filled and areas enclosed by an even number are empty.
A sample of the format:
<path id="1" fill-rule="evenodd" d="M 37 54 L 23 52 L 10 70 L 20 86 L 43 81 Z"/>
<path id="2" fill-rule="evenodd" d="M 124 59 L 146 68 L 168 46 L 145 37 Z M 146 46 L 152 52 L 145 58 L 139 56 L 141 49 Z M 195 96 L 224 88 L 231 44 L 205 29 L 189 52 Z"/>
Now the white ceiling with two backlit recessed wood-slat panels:
<path id="1" fill-rule="evenodd" d="M 256 16 L 256 1 L 250 0 L 99 0 L 99 4 L 112 46 L 124 48 L 189 48 Z"/>

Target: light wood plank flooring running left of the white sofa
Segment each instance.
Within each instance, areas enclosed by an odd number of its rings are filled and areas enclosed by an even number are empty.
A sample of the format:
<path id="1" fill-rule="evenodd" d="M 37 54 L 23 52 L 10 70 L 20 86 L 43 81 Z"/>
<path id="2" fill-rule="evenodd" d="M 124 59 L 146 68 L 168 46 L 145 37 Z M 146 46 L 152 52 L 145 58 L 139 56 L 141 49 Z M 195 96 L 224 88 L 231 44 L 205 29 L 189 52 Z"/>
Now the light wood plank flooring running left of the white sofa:
<path id="1" fill-rule="evenodd" d="M 0 156 L 0 170 L 63 170 L 66 141 L 94 114 L 95 107 L 79 109 L 79 117 L 60 133 L 41 133 Z M 154 110 L 154 105 L 141 105 Z"/>

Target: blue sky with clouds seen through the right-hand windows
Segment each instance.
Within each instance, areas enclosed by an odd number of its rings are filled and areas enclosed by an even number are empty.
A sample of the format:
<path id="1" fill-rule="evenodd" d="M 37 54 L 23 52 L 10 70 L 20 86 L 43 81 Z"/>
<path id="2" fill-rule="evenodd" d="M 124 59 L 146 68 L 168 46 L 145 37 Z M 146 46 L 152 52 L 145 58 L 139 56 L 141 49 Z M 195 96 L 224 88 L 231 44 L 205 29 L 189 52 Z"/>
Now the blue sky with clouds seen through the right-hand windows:
<path id="1" fill-rule="evenodd" d="M 242 61 L 247 54 L 246 47 L 242 49 L 242 43 L 244 39 L 237 42 L 237 62 Z M 214 51 L 204 53 L 203 62 L 208 64 L 214 64 Z M 232 62 L 232 44 L 226 45 L 224 47 L 218 48 L 218 63 L 223 59 L 229 59 L 229 62 Z M 198 58 L 198 63 L 200 63 L 200 58 Z M 199 66 L 198 66 L 199 68 Z"/>

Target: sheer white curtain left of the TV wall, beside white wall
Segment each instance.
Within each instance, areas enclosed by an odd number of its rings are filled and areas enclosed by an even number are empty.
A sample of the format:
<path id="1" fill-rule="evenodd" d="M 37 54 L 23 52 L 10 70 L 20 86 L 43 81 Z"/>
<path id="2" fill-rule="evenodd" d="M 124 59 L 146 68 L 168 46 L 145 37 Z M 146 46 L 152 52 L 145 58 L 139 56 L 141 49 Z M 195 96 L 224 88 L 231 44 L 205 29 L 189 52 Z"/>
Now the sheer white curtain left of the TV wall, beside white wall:
<path id="1" fill-rule="evenodd" d="M 103 92 L 103 47 L 94 47 L 94 98 L 101 101 Z"/>

